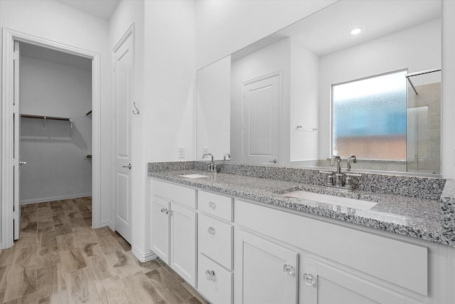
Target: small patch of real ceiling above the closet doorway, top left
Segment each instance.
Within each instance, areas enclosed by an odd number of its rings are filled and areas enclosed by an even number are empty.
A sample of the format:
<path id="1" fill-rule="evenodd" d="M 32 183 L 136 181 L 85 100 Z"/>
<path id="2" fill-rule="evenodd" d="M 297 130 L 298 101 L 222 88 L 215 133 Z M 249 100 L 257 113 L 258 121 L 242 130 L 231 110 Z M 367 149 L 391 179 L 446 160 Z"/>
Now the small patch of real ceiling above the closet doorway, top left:
<path id="1" fill-rule="evenodd" d="M 85 13 L 98 16 L 102 19 L 111 19 L 120 0 L 57 0 L 62 4 L 66 4 Z"/>

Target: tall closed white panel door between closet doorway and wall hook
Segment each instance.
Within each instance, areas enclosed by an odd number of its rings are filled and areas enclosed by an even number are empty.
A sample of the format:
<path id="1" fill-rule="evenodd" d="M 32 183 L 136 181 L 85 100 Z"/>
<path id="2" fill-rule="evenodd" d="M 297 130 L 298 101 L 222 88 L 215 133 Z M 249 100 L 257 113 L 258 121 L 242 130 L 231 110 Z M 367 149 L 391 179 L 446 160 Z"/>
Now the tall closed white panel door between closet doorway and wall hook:
<path id="1" fill-rule="evenodd" d="M 131 243 L 132 166 L 131 128 L 133 103 L 134 39 L 132 34 L 114 51 L 114 226 Z"/>

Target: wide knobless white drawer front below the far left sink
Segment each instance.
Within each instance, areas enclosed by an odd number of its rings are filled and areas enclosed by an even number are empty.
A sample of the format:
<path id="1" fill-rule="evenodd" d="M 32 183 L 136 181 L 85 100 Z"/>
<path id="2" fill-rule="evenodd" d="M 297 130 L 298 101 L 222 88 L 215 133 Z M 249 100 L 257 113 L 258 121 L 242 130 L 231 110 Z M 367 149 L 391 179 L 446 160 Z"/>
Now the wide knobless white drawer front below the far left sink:
<path id="1" fill-rule="evenodd" d="M 182 204 L 193 209 L 196 208 L 195 189 L 151 179 L 151 192 L 153 192 L 154 195 L 163 197 L 164 199 L 176 201 L 178 204 Z"/>

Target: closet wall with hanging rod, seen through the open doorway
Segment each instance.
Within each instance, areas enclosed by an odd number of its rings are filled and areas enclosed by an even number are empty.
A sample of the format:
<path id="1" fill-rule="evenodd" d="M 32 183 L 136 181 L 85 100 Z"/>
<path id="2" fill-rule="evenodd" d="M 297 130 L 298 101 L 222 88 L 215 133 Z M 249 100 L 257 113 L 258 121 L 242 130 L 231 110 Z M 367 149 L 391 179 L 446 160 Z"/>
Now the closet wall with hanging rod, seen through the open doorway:
<path id="1" fill-rule="evenodd" d="M 22 118 L 21 203 L 91 195 L 92 70 L 21 56 L 20 76 L 22 114 L 72 121 Z"/>

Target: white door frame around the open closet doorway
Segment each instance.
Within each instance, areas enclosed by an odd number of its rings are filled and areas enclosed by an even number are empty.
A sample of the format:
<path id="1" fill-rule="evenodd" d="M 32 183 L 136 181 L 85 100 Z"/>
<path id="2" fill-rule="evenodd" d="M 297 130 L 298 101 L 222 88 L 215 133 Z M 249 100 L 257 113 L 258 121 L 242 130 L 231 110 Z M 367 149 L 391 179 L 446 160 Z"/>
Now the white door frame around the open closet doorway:
<path id="1" fill-rule="evenodd" d="M 13 104 L 14 41 L 30 43 L 55 51 L 70 53 L 92 60 L 92 226 L 100 226 L 100 53 L 94 53 L 50 41 L 26 33 L 2 28 L 1 78 L 1 243 L 0 248 L 13 246 Z"/>

